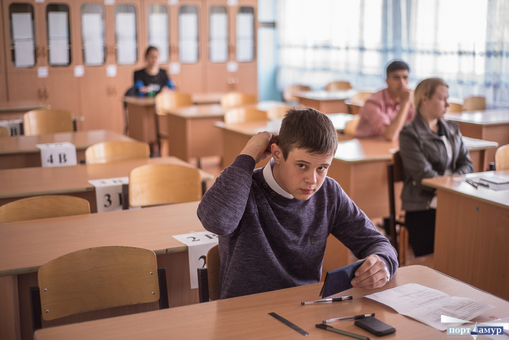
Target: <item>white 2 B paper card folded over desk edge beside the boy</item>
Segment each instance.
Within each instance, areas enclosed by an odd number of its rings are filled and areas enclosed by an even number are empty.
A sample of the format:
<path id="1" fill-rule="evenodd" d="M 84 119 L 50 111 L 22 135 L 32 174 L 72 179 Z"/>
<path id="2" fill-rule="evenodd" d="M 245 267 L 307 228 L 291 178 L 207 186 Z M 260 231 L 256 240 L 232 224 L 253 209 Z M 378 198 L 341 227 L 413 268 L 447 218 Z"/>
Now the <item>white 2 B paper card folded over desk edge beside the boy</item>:
<path id="1" fill-rule="evenodd" d="M 191 289 L 198 288 L 197 269 L 203 268 L 205 263 L 200 257 L 207 256 L 210 248 L 217 244 L 217 235 L 211 232 L 198 232 L 182 235 L 173 235 L 173 237 L 188 247 L 189 251 L 189 278 L 191 279 Z"/>

